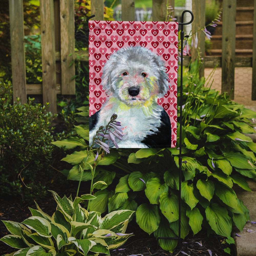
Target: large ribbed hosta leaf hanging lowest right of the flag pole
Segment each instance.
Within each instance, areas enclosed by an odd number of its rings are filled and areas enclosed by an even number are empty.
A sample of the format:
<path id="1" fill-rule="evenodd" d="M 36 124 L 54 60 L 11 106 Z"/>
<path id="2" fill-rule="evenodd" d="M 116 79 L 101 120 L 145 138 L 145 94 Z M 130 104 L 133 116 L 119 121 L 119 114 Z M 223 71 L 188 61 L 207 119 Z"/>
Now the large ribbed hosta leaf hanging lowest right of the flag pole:
<path id="1" fill-rule="evenodd" d="M 218 204 L 212 204 L 205 210 L 206 219 L 217 235 L 230 237 L 232 221 L 228 210 Z"/>

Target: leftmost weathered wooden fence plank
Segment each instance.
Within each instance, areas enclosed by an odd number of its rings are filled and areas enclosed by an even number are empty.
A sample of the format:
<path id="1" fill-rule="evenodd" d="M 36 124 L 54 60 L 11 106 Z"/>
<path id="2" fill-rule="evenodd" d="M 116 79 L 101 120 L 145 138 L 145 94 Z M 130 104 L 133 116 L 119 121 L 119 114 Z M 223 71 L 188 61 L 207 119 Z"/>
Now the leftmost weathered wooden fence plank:
<path id="1" fill-rule="evenodd" d="M 24 46 L 23 0 L 9 0 L 12 55 L 13 100 L 26 103 L 26 64 Z"/>

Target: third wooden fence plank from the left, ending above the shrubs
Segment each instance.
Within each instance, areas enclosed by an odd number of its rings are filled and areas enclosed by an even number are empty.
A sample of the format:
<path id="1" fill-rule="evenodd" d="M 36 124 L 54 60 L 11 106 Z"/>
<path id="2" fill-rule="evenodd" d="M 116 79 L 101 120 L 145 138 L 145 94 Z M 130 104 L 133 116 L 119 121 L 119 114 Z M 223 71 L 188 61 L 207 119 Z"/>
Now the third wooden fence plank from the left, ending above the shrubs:
<path id="1" fill-rule="evenodd" d="M 75 80 L 75 37 L 74 1 L 60 1 L 60 42 L 61 42 L 61 93 L 76 94 Z"/>

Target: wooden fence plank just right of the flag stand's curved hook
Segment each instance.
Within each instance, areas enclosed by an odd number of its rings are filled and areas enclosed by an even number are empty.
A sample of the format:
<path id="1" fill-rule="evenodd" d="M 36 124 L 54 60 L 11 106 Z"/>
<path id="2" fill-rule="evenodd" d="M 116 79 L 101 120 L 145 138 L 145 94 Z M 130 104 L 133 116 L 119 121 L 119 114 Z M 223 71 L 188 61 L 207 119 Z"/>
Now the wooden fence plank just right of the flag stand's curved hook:
<path id="1" fill-rule="evenodd" d="M 192 11 L 194 13 L 194 22 L 192 23 L 192 34 L 194 34 L 197 30 L 204 28 L 205 26 L 205 0 L 195 0 L 192 1 Z M 199 76 L 203 77 L 205 72 L 205 34 L 203 31 L 198 31 L 198 45 L 197 48 L 195 46 L 191 49 L 191 60 L 195 61 L 198 57 L 198 52 L 200 58 L 203 59 L 203 63 L 199 70 Z"/>

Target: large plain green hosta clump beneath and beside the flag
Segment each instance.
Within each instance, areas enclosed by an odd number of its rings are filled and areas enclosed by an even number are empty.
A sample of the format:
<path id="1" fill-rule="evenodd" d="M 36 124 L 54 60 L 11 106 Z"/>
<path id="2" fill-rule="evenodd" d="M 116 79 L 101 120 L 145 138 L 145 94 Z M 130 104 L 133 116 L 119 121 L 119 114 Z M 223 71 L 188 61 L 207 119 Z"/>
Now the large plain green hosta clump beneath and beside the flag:
<path id="1" fill-rule="evenodd" d="M 206 87 L 205 78 L 199 78 L 199 68 L 196 61 L 184 71 L 183 125 L 177 127 L 177 145 L 182 129 L 182 160 L 187 161 L 182 164 L 181 237 L 190 231 L 197 234 L 204 227 L 208 234 L 221 235 L 232 243 L 232 227 L 242 230 L 249 220 L 248 209 L 232 187 L 235 183 L 250 191 L 245 178 L 256 178 L 256 144 L 245 135 L 254 133 L 250 119 L 256 118 L 256 113 L 232 102 L 225 93 Z M 179 91 L 177 98 L 179 102 Z M 75 129 L 88 132 L 86 126 Z M 86 153 L 88 138 L 74 136 L 58 143 L 74 148 L 63 158 L 74 167 L 63 173 L 68 179 L 79 180 L 79 163 Z M 136 210 L 136 222 L 148 234 L 153 233 L 156 238 L 177 237 L 178 162 L 178 148 L 111 152 L 95 172 L 94 180 L 106 184 L 94 189 L 97 198 L 91 202 L 90 210 Z M 120 179 L 113 190 L 110 184 L 115 177 Z M 90 178 L 87 166 L 82 180 Z M 159 240 L 159 244 L 164 250 L 173 251 L 177 240 Z"/>

